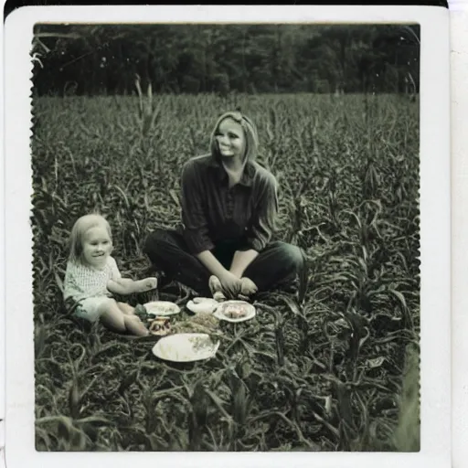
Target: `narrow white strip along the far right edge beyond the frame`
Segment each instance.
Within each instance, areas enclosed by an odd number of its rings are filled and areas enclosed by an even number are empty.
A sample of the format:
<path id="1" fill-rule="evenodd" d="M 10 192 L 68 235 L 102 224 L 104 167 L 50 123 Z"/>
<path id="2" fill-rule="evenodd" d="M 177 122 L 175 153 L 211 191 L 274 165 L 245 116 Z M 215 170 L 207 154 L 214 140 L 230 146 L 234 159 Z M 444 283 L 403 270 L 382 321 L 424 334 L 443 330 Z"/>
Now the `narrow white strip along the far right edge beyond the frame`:
<path id="1" fill-rule="evenodd" d="M 468 460 L 468 0 L 450 2 L 452 56 L 452 463 Z"/>

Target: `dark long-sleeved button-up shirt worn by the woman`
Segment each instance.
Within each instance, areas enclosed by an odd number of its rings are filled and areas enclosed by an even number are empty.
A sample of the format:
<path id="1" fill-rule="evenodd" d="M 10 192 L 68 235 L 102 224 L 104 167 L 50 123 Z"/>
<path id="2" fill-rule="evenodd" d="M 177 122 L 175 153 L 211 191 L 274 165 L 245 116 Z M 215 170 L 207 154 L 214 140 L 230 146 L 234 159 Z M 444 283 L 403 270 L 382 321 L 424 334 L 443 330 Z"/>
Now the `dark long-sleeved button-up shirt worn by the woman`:
<path id="1" fill-rule="evenodd" d="M 275 177 L 247 162 L 238 184 L 211 154 L 197 156 L 182 169 L 182 222 L 192 254 L 212 250 L 219 241 L 239 239 L 242 250 L 263 250 L 278 213 Z"/>

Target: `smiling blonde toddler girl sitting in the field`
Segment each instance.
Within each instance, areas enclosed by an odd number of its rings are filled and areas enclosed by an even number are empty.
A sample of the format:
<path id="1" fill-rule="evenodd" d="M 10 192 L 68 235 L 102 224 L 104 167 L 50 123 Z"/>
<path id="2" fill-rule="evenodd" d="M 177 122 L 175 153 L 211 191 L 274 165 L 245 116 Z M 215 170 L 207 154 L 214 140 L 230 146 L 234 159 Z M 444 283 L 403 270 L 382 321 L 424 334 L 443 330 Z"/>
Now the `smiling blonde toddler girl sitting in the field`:
<path id="1" fill-rule="evenodd" d="M 112 253 L 112 232 L 100 215 L 79 218 L 70 235 L 64 299 L 78 303 L 75 316 L 96 322 L 118 333 L 146 336 L 150 332 L 133 307 L 118 303 L 112 293 L 144 293 L 157 286 L 156 278 L 123 279 Z"/>

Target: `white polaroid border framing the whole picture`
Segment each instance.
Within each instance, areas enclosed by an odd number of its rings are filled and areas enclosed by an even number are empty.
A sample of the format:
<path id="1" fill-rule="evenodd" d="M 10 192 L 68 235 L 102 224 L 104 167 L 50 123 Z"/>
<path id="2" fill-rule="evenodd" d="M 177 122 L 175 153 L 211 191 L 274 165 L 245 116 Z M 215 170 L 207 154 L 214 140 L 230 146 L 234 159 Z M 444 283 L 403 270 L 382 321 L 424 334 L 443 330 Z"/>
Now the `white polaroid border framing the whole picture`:
<path id="1" fill-rule="evenodd" d="M 420 23 L 421 450 L 381 452 L 36 452 L 31 210 L 33 26 L 63 23 Z M 29 6 L 5 21 L 5 455 L 9 468 L 451 466 L 449 12 L 434 6 Z"/>

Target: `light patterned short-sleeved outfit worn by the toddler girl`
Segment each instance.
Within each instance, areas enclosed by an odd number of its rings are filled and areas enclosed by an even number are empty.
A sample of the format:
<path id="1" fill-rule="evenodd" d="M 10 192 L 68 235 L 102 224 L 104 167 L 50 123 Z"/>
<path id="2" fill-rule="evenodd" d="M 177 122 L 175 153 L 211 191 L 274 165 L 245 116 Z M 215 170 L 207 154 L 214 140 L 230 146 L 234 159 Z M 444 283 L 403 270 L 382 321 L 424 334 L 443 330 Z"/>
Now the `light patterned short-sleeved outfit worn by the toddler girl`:
<path id="1" fill-rule="evenodd" d="M 100 306 L 112 298 L 107 289 L 109 280 L 122 278 L 115 260 L 109 256 L 102 270 L 97 270 L 81 263 L 69 261 L 65 272 L 63 296 L 80 305 L 73 315 L 95 322 L 100 317 Z"/>

